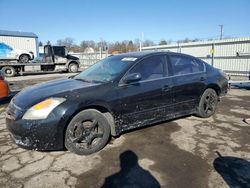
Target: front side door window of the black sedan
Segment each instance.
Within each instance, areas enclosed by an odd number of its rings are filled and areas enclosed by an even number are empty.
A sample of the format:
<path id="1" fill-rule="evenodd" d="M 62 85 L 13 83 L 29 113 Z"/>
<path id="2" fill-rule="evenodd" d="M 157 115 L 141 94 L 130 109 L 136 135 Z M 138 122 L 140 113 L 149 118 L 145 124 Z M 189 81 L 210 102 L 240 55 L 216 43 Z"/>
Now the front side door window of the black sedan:
<path id="1" fill-rule="evenodd" d="M 165 76 L 165 56 L 148 57 L 135 65 L 129 73 L 140 73 L 141 80 L 158 79 Z"/>

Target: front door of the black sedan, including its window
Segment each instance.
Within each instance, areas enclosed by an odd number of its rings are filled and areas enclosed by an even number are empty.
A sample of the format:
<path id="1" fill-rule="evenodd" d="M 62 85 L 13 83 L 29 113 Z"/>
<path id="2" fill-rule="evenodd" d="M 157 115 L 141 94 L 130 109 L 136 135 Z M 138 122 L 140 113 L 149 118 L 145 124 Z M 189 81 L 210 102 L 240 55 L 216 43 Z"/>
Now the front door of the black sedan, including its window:
<path id="1" fill-rule="evenodd" d="M 147 125 L 172 113 L 172 78 L 168 77 L 165 55 L 154 55 L 138 62 L 128 74 L 140 73 L 138 82 L 119 85 L 123 130 Z"/>

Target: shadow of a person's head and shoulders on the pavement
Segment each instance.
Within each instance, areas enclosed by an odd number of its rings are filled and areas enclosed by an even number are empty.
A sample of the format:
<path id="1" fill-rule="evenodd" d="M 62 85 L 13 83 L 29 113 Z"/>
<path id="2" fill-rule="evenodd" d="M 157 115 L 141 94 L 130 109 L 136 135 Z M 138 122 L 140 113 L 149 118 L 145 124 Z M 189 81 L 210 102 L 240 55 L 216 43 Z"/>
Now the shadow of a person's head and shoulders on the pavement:
<path id="1" fill-rule="evenodd" d="M 120 155 L 121 170 L 105 179 L 103 188 L 112 187 L 160 187 L 159 182 L 150 172 L 138 164 L 138 157 L 133 151 Z"/>

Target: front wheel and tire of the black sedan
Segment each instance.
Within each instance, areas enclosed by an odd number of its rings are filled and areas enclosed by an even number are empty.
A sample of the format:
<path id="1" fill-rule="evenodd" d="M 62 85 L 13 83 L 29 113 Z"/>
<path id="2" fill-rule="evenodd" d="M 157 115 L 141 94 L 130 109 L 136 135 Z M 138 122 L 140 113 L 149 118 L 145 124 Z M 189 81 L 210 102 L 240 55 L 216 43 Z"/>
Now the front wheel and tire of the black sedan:
<path id="1" fill-rule="evenodd" d="M 95 109 L 83 110 L 70 121 L 65 133 L 65 147 L 78 155 L 101 150 L 110 137 L 107 118 Z"/>

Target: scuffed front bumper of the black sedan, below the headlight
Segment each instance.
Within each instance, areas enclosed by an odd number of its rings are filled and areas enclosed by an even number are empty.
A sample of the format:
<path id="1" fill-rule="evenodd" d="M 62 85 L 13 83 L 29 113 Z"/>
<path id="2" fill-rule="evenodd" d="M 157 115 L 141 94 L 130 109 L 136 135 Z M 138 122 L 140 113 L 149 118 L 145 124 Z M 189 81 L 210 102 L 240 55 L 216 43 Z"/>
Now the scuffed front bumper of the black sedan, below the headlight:
<path id="1" fill-rule="evenodd" d="M 6 125 L 14 142 L 26 149 L 63 149 L 63 137 L 58 134 L 58 122 L 50 120 L 13 120 L 6 117 Z"/>

